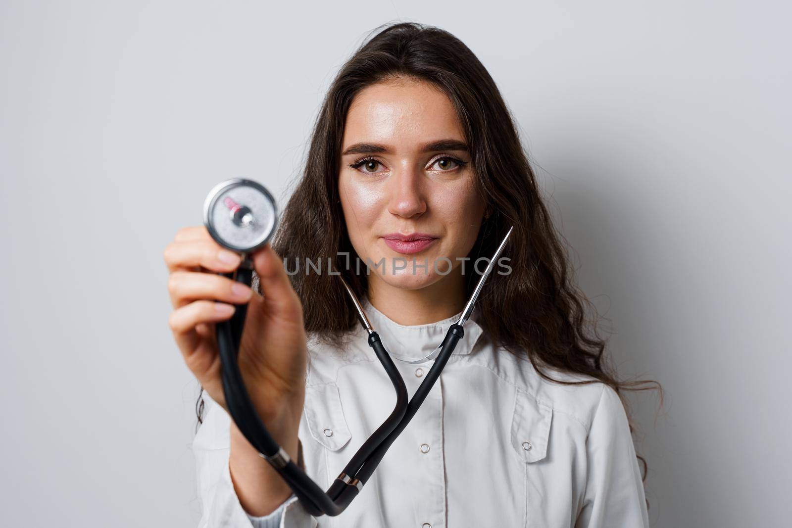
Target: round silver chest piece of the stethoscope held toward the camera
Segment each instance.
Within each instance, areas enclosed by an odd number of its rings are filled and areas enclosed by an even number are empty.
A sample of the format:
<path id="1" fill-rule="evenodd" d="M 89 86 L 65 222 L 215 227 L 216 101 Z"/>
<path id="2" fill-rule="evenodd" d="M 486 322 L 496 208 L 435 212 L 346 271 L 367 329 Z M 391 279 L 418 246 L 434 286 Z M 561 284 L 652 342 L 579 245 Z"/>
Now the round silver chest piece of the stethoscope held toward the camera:
<path id="1" fill-rule="evenodd" d="M 261 184 L 235 178 L 217 184 L 204 202 L 204 225 L 224 248 L 250 253 L 265 245 L 278 222 L 275 199 Z"/>

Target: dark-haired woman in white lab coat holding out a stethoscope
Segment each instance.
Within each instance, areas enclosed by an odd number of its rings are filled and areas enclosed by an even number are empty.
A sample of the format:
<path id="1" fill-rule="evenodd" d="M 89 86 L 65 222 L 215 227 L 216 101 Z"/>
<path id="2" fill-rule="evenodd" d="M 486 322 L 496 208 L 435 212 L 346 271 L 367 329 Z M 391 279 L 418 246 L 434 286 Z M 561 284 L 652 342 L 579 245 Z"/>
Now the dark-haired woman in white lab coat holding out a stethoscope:
<path id="1" fill-rule="evenodd" d="M 432 361 L 405 359 L 440 343 L 510 226 L 508 270 L 417 415 L 341 515 L 311 518 L 229 419 L 212 324 L 249 302 L 253 403 L 328 488 L 395 396 L 341 280 L 305 260 L 341 270 L 412 395 Z M 200 526 L 648 526 L 619 397 L 636 385 L 605 367 L 505 102 L 449 33 L 392 25 L 342 67 L 273 247 L 254 255 L 255 291 L 216 274 L 239 257 L 203 227 L 165 259 L 169 323 L 211 397 L 194 443 Z"/>

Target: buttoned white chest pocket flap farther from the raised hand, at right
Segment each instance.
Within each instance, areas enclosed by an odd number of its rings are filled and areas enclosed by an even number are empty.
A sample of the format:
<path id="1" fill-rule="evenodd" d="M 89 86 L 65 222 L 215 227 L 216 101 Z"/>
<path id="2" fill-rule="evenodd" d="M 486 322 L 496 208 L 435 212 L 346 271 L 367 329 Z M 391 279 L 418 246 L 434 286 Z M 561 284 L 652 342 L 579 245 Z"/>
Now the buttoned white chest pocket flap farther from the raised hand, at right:
<path id="1" fill-rule="evenodd" d="M 546 457 L 553 408 L 521 389 L 516 389 L 512 418 L 512 447 L 524 462 Z"/>

